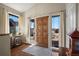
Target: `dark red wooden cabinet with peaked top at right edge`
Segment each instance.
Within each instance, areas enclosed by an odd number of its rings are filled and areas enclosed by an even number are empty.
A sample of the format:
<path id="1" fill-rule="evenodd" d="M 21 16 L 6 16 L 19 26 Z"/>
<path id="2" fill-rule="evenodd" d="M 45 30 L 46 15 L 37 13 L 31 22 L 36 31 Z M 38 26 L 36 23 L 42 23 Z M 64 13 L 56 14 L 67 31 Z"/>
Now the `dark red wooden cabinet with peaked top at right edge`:
<path id="1" fill-rule="evenodd" d="M 71 55 L 79 56 L 79 31 L 76 29 L 71 34 L 69 34 L 69 36 Z"/>

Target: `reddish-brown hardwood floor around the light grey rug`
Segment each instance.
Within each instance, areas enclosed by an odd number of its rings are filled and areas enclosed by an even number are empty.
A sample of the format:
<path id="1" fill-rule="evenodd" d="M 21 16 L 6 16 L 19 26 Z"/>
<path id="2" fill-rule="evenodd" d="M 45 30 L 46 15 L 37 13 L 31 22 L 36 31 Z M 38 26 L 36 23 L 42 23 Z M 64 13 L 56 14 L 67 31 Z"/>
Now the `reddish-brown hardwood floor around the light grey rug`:
<path id="1" fill-rule="evenodd" d="M 33 56 L 29 53 L 25 53 L 22 50 L 30 46 L 29 44 L 22 44 L 21 46 L 15 47 L 11 49 L 11 56 Z M 57 51 L 52 51 L 52 56 L 58 56 Z"/>

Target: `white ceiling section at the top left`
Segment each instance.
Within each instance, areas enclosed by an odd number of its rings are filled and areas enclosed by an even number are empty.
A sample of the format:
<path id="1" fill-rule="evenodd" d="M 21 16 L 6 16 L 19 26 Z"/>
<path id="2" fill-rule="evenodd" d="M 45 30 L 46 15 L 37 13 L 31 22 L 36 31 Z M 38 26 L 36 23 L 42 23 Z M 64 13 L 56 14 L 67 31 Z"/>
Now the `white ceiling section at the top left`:
<path id="1" fill-rule="evenodd" d="M 4 5 L 11 7 L 19 12 L 25 12 L 36 4 L 35 3 L 4 3 Z"/>

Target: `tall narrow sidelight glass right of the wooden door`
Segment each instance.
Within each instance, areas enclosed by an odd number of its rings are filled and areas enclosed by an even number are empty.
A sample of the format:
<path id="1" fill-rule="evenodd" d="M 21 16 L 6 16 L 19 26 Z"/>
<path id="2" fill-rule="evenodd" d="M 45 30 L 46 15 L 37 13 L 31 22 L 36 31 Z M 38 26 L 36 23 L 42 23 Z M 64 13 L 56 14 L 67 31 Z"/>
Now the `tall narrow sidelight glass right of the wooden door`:
<path id="1" fill-rule="evenodd" d="M 60 15 L 52 16 L 52 48 L 59 48 L 60 40 Z"/>

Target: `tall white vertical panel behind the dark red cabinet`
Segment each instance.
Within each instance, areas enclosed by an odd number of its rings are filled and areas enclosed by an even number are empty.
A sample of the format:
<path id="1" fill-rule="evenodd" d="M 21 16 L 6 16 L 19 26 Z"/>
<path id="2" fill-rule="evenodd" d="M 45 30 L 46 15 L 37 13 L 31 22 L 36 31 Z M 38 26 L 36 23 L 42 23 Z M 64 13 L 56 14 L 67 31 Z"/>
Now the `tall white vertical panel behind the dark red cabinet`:
<path id="1" fill-rule="evenodd" d="M 76 28 L 76 3 L 66 4 L 66 47 L 69 48 L 68 34 Z"/>

